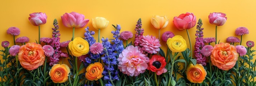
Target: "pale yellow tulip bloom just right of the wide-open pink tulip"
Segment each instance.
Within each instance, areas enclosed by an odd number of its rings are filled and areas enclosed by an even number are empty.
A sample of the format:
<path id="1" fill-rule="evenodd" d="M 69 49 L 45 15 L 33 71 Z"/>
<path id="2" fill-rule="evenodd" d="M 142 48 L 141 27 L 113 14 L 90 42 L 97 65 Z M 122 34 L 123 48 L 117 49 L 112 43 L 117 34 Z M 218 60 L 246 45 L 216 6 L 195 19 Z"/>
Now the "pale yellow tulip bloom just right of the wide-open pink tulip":
<path id="1" fill-rule="evenodd" d="M 108 27 L 109 21 L 106 18 L 103 17 L 96 17 L 95 19 L 91 19 L 93 20 L 93 27 L 95 29 L 104 29 L 106 27 Z"/>

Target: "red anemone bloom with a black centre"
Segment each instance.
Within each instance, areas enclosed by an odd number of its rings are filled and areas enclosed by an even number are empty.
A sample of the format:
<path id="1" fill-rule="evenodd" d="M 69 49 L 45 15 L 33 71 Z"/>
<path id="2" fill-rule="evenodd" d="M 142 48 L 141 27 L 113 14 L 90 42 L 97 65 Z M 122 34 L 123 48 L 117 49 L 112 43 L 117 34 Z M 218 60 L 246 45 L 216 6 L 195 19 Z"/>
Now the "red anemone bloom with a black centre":
<path id="1" fill-rule="evenodd" d="M 167 72 L 165 65 L 165 58 L 155 54 L 150 59 L 147 69 L 151 70 L 152 72 L 156 72 L 156 75 L 161 75 L 162 73 Z"/>

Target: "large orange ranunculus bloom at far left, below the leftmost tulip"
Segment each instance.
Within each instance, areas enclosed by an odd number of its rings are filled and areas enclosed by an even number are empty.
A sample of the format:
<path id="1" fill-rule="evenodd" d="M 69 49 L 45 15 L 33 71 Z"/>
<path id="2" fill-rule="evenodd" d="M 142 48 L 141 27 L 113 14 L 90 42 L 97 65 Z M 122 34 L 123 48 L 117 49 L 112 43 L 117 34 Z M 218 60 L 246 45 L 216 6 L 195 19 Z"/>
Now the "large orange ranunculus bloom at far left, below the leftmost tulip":
<path id="1" fill-rule="evenodd" d="M 34 70 L 43 65 L 45 55 L 40 44 L 27 43 L 20 47 L 18 54 L 20 65 L 27 70 Z"/>

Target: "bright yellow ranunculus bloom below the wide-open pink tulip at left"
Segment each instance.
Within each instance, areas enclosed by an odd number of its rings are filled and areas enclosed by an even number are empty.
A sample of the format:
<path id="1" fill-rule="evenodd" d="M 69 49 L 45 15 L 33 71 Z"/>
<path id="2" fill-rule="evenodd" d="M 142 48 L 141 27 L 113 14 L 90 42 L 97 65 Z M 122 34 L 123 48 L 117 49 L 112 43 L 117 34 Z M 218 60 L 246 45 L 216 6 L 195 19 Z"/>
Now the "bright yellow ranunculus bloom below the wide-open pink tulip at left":
<path id="1" fill-rule="evenodd" d="M 76 37 L 73 41 L 68 43 L 68 48 L 74 56 L 80 57 L 89 52 L 89 43 L 81 37 Z"/>

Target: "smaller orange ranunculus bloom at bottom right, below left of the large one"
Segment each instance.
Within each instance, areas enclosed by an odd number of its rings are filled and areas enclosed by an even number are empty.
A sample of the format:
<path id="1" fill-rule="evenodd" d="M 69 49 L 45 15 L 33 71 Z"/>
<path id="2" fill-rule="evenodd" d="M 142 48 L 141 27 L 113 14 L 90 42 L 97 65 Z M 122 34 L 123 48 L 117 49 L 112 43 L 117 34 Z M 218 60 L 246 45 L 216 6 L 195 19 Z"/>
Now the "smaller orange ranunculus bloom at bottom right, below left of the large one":
<path id="1" fill-rule="evenodd" d="M 192 83 L 202 83 L 207 75 L 204 67 L 201 64 L 190 64 L 186 72 L 187 78 Z"/>

